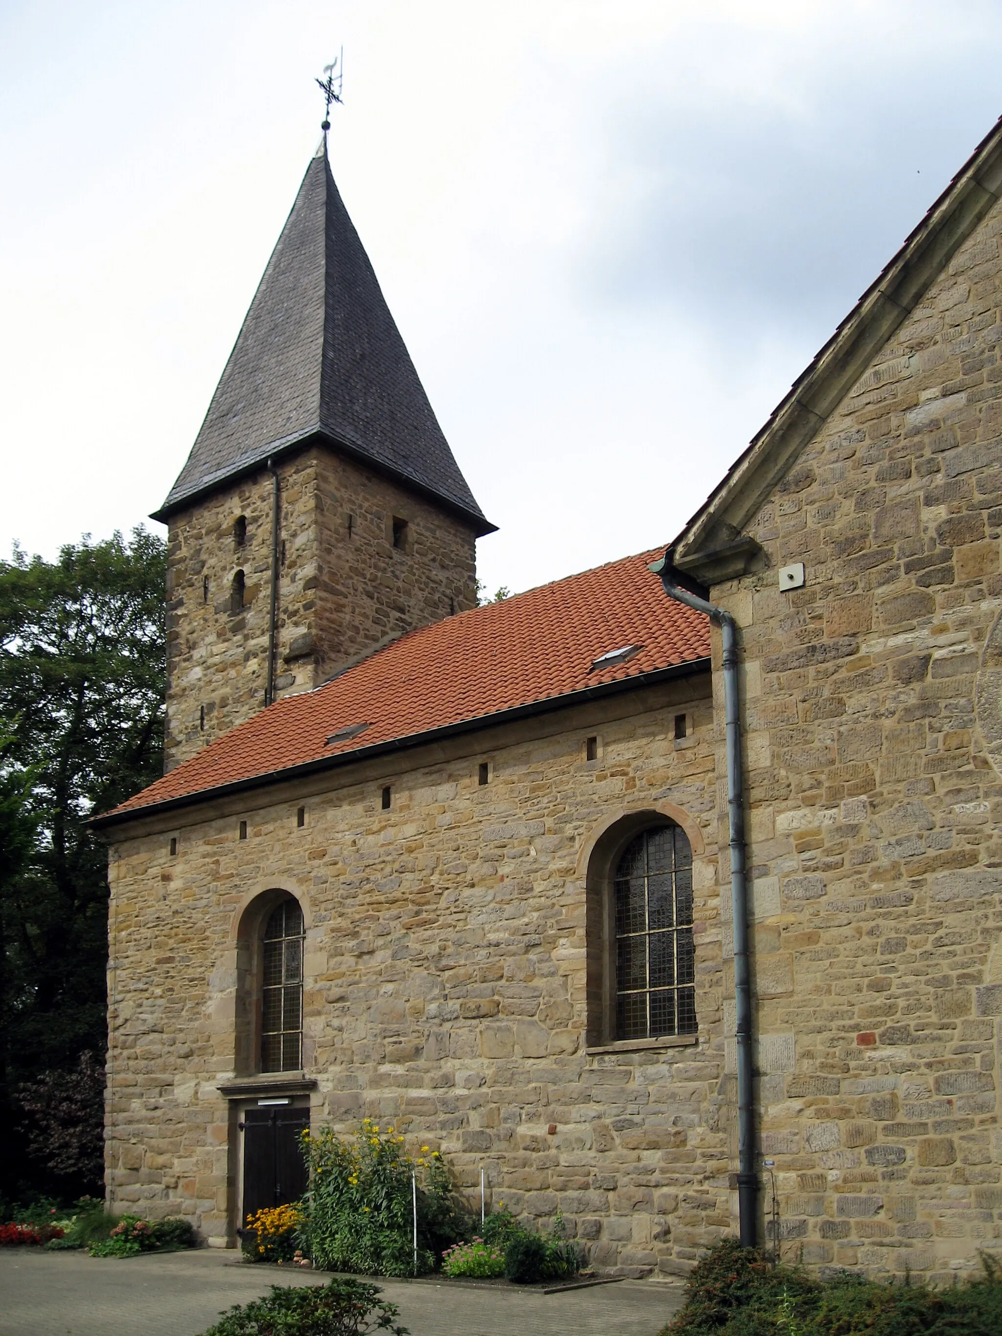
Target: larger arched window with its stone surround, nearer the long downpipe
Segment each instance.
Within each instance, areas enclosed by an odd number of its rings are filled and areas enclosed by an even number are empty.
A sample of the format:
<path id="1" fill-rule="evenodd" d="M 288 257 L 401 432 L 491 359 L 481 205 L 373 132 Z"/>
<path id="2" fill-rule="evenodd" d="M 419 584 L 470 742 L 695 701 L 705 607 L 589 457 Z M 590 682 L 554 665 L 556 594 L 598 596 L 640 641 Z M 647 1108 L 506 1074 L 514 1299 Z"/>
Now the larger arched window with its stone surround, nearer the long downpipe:
<path id="1" fill-rule="evenodd" d="M 589 1046 L 696 1033 L 692 876 L 703 851 L 699 828 L 669 803 L 611 816 L 582 850 Z"/>

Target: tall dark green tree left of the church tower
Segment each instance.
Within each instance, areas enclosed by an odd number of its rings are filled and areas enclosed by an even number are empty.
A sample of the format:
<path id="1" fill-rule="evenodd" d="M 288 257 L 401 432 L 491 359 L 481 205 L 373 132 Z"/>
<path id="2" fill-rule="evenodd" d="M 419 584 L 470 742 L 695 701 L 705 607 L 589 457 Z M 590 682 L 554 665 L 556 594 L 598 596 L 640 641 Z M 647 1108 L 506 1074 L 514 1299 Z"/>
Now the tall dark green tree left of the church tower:
<path id="1" fill-rule="evenodd" d="M 162 772 L 163 588 L 164 544 L 142 528 L 0 561 L 0 822 L 17 831 L 0 856 L 0 1136 L 17 1085 L 106 1049 L 107 860 L 87 820 Z"/>

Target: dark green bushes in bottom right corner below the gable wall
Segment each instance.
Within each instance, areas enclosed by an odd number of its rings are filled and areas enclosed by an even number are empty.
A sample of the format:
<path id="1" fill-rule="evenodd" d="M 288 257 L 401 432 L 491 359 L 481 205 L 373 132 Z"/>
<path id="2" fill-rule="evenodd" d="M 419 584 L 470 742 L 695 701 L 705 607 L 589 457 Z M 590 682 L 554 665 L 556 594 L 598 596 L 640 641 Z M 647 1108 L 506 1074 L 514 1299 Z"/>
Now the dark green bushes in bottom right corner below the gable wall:
<path id="1" fill-rule="evenodd" d="M 842 1273 L 820 1281 L 800 1267 L 728 1238 L 696 1264 L 685 1307 L 661 1336 L 994 1336 L 1002 1331 L 1002 1276 L 950 1289 L 882 1284 Z"/>

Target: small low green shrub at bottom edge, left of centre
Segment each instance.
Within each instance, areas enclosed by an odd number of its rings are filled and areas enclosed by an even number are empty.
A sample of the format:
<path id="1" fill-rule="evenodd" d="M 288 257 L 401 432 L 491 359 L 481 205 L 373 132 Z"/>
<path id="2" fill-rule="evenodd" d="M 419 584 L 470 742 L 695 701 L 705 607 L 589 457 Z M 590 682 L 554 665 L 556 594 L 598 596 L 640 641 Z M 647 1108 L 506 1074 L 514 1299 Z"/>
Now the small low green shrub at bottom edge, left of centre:
<path id="1" fill-rule="evenodd" d="M 238 1304 L 203 1336 L 365 1336 L 385 1331 L 407 1336 L 395 1304 L 379 1300 L 378 1285 L 334 1279 L 329 1285 L 273 1285 L 267 1299 Z"/>

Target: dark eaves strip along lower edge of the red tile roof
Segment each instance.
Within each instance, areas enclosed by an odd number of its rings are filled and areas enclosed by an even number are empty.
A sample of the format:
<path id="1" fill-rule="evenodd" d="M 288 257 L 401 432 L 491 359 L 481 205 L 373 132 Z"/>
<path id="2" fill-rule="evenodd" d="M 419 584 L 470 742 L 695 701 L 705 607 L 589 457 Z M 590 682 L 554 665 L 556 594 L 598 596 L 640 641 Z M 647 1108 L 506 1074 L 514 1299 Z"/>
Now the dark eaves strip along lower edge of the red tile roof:
<path id="1" fill-rule="evenodd" d="M 536 715 L 549 713 L 557 709 L 570 709 L 574 705 L 587 704 L 591 700 L 601 700 L 625 691 L 637 691 L 644 687 L 655 687 L 675 677 L 687 677 L 692 673 L 709 668 L 709 659 L 688 659 L 680 664 L 669 664 L 667 668 L 653 668 L 645 673 L 617 677 L 615 681 L 599 683 L 595 687 L 584 687 L 578 691 L 565 692 L 560 696 L 546 696 L 524 705 L 513 705 L 509 709 L 498 709 L 489 715 L 476 715 L 472 719 L 461 719 L 452 724 L 442 724 L 438 728 L 429 728 L 420 733 L 407 733 L 402 737 L 390 737 L 382 743 L 373 743 L 369 747 L 355 747 L 350 751 L 337 752 L 334 756 L 322 756 L 317 760 L 305 762 L 301 766 L 286 766 L 282 770 L 266 771 L 261 775 L 248 775 L 246 779 L 232 780 L 228 784 L 216 784 L 211 788 L 200 788 L 192 794 L 183 794 L 178 798 L 168 798 L 160 803 L 147 803 L 143 807 L 132 807 L 127 811 L 104 812 L 92 816 L 88 826 L 96 831 L 110 830 L 123 826 L 127 822 L 142 818 L 156 816 L 163 812 L 179 811 L 184 807 L 195 807 L 210 799 L 227 798 L 232 794 L 247 792 L 254 788 L 265 788 L 270 784 L 282 784 L 290 780 L 302 779 L 309 775 L 318 775 L 323 771 L 337 770 L 355 762 L 370 760 L 377 756 L 391 755 L 393 752 L 409 751 L 428 743 L 444 741 L 448 737 L 457 737 L 462 733 L 476 732 L 481 728 L 494 728 L 501 724 L 516 723 L 521 719 L 530 719 Z"/>

